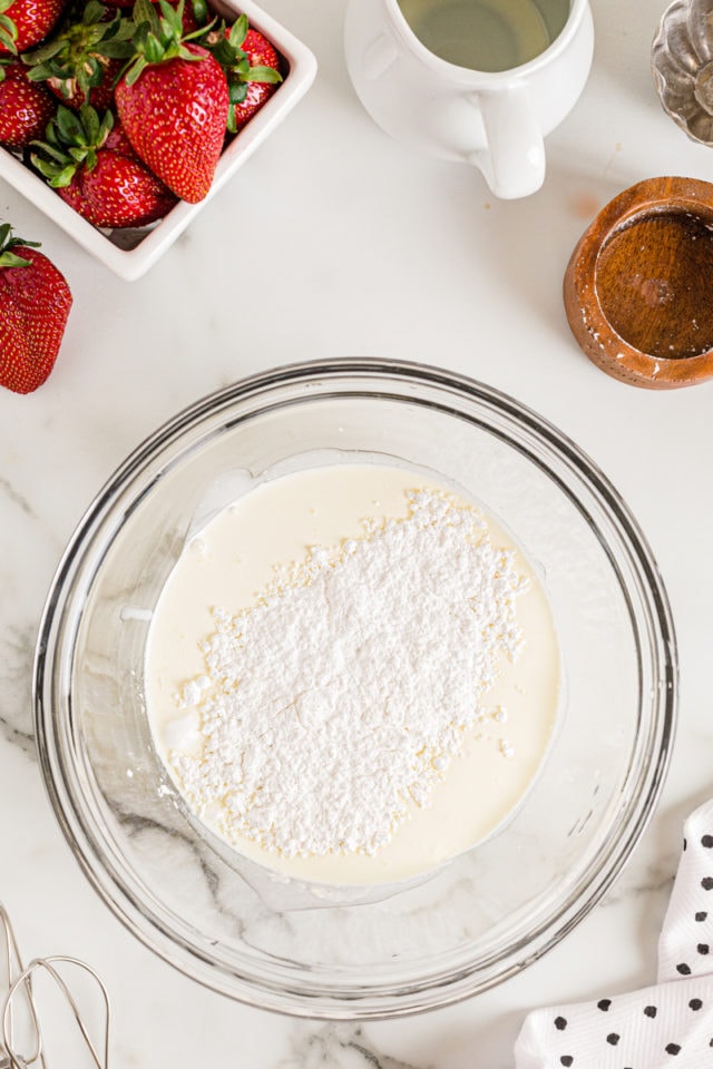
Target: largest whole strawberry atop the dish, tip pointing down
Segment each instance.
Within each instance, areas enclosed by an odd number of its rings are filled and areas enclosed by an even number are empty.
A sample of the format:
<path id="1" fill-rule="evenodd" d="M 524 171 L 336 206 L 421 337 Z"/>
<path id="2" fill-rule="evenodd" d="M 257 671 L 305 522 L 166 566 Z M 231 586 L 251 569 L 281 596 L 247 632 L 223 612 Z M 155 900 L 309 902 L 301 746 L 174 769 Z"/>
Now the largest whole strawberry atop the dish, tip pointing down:
<path id="1" fill-rule="evenodd" d="M 137 0 L 136 61 L 116 87 L 116 107 L 147 167 L 184 200 L 208 193 L 223 150 L 228 90 L 221 65 L 183 38 L 183 4 Z"/>

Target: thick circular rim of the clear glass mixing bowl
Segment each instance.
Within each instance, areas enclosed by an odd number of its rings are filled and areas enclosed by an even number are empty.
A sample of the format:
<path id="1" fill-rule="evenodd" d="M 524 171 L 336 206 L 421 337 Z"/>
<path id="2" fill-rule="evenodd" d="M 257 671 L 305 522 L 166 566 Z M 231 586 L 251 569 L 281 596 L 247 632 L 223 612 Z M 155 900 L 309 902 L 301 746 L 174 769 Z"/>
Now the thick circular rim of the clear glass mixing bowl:
<path id="1" fill-rule="evenodd" d="M 305 394 L 307 388 L 310 394 Z M 437 968 L 411 983 L 400 978 L 398 983 L 370 984 L 367 979 L 360 984 L 335 982 L 326 987 L 309 970 L 297 973 L 290 963 L 276 968 L 271 962 L 264 970 L 261 964 L 260 974 L 251 969 L 218 967 L 211 959 L 208 945 L 196 948 L 187 933 L 167 923 L 160 903 L 147 901 L 146 895 L 141 899 L 131 885 L 130 872 L 101 838 L 72 764 L 71 710 L 68 717 L 58 715 L 57 685 L 66 684 L 62 670 L 68 671 L 58 658 L 67 599 L 81 575 L 92 534 L 110 513 L 117 492 L 158 457 L 169 463 L 192 432 L 199 430 L 205 435 L 209 425 L 224 426 L 237 418 L 241 406 L 254 405 L 256 399 L 262 400 L 262 409 L 270 408 L 275 396 L 284 403 L 291 390 L 301 398 L 321 400 L 344 395 L 416 400 L 451 413 L 487 428 L 528 457 L 556 481 L 590 524 L 590 509 L 598 509 L 607 521 L 604 548 L 619 575 L 634 630 L 644 636 L 651 665 L 651 700 L 645 718 L 639 708 L 636 745 L 627 771 L 628 791 L 606 842 L 559 902 L 556 913 L 545 921 L 538 916 L 535 928 L 520 933 L 515 945 L 491 953 L 485 962 Z M 589 508 L 576 492 L 583 489 Z M 612 542 L 616 545 L 616 560 Z M 634 621 L 635 611 L 638 619 Z M 641 643 L 637 645 L 641 684 L 642 649 Z M 33 703 L 40 766 L 61 830 L 95 890 L 135 936 L 186 975 L 262 1009 L 321 1019 L 383 1019 L 442 1007 L 516 975 L 554 948 L 600 900 L 643 834 L 663 786 L 676 719 L 677 653 L 668 598 L 636 520 L 596 464 L 554 425 L 490 386 L 426 364 L 378 359 L 311 361 L 256 374 L 209 394 L 159 428 L 117 469 L 78 524 L 57 569 L 40 625 Z"/>

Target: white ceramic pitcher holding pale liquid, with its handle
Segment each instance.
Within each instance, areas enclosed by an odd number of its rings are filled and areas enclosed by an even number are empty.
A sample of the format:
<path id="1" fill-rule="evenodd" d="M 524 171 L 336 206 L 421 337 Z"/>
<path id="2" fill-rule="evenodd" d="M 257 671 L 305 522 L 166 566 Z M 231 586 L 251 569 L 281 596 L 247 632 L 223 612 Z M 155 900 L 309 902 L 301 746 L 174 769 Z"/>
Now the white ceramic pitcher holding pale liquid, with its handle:
<path id="1" fill-rule="evenodd" d="M 449 2 L 430 0 L 436 17 Z M 489 0 L 490 8 L 500 2 Z M 544 137 L 584 89 L 594 27 L 588 0 L 569 0 L 564 26 L 543 51 L 506 70 L 476 70 L 427 48 L 399 0 L 350 0 L 344 47 L 356 94 L 388 134 L 475 165 L 497 197 L 515 198 L 544 182 Z"/>

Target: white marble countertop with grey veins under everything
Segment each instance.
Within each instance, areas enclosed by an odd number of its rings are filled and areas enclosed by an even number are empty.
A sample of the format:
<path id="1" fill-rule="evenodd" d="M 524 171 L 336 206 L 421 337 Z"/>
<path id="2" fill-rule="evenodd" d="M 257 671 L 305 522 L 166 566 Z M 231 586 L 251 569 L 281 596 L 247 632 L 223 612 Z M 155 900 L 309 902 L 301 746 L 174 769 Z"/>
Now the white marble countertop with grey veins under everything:
<path id="1" fill-rule="evenodd" d="M 0 217 L 43 243 L 75 294 L 36 394 L 0 395 L 0 901 L 26 957 L 104 977 L 111 1065 L 508 1069 L 530 1008 L 654 982 L 684 816 L 713 794 L 713 384 L 647 392 L 602 374 L 564 314 L 569 254 L 607 200 L 656 175 L 713 180 L 713 153 L 664 115 L 649 73 L 663 0 L 593 0 L 587 88 L 548 138 L 544 188 L 496 202 L 466 165 L 383 135 L 349 82 L 344 0 L 264 0 L 315 53 L 313 88 L 148 275 L 126 283 L 13 190 Z M 370 355 L 439 364 L 551 420 L 603 468 L 668 588 L 680 727 L 649 828 L 613 890 L 517 979 L 458 1006 L 364 1026 L 292 1020 L 204 990 L 100 903 L 65 843 L 35 755 L 31 664 L 62 548 L 104 480 L 201 395 L 271 365 Z"/>

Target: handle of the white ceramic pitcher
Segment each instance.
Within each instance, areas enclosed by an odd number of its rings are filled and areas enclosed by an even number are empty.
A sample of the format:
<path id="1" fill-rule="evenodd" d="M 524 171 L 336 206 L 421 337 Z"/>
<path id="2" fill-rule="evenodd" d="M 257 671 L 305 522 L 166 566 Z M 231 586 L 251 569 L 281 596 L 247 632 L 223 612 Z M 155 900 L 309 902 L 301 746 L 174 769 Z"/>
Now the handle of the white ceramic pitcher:
<path id="1" fill-rule="evenodd" d="M 527 94 L 511 86 L 475 94 L 472 102 L 482 116 L 487 144 L 469 161 L 496 197 L 511 200 L 536 193 L 545 180 L 545 144 Z"/>

